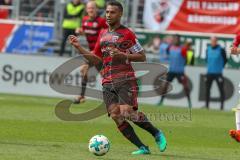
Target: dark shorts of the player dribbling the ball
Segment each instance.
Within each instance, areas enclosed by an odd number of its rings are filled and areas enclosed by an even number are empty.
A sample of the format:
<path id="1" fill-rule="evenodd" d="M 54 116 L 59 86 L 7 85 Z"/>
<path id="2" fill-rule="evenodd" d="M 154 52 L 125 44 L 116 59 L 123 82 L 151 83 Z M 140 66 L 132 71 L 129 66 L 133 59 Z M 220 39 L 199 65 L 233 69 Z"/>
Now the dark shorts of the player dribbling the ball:
<path id="1" fill-rule="evenodd" d="M 103 100 L 107 109 L 112 104 L 128 104 L 132 106 L 134 110 L 137 110 L 137 95 L 138 85 L 136 80 L 103 84 Z"/>

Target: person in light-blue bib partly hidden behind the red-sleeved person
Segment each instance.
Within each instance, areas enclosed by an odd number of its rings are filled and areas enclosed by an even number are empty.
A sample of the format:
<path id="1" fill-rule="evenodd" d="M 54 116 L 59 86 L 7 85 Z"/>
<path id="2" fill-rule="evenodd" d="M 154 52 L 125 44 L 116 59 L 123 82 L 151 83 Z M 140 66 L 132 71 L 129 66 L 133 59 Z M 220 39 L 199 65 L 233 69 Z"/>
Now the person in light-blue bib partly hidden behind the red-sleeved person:
<path id="1" fill-rule="evenodd" d="M 166 36 L 163 38 L 159 46 L 159 58 L 161 63 L 168 63 L 169 58 L 167 55 L 167 49 L 172 44 L 172 36 Z"/>

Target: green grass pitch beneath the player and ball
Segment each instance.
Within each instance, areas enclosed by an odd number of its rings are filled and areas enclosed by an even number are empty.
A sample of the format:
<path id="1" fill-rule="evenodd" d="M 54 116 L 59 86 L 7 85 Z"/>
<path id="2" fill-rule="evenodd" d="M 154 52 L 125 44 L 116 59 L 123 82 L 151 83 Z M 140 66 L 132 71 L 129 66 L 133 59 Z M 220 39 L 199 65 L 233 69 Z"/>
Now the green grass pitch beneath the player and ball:
<path id="1" fill-rule="evenodd" d="M 160 153 L 150 134 L 134 126 L 152 154 L 132 156 L 135 146 L 124 139 L 107 115 L 87 122 L 62 121 L 54 114 L 60 100 L 1 94 L 0 160 L 239 160 L 240 157 L 240 144 L 228 135 L 228 130 L 235 128 L 232 112 L 193 109 L 190 120 L 187 108 L 140 105 L 140 110 L 148 115 L 165 115 L 151 119 L 164 131 L 168 148 Z M 73 105 L 72 112 L 84 112 L 99 103 Z M 173 115 L 178 118 L 173 119 Z M 103 134 L 111 141 L 107 155 L 96 157 L 88 152 L 88 141 L 95 134 Z"/>

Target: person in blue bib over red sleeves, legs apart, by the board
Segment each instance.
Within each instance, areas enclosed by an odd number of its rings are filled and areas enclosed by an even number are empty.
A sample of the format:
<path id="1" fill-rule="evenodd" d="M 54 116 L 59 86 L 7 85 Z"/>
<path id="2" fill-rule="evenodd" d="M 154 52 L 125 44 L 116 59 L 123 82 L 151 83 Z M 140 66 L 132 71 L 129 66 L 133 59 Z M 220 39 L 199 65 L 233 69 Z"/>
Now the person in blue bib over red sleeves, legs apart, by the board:
<path id="1" fill-rule="evenodd" d="M 188 79 L 184 73 L 185 65 L 187 63 L 187 51 L 188 48 L 182 46 L 180 44 L 180 36 L 174 35 L 173 36 L 173 44 L 169 46 L 167 49 L 167 54 L 169 56 L 169 72 L 167 74 L 167 81 L 172 82 L 174 78 L 177 78 L 178 82 L 183 85 L 185 95 L 188 99 L 188 106 L 189 108 L 192 107 L 192 102 L 190 98 L 190 89 L 188 86 Z M 165 86 L 165 90 L 167 86 Z M 159 105 L 163 105 L 165 96 L 163 95 Z"/>

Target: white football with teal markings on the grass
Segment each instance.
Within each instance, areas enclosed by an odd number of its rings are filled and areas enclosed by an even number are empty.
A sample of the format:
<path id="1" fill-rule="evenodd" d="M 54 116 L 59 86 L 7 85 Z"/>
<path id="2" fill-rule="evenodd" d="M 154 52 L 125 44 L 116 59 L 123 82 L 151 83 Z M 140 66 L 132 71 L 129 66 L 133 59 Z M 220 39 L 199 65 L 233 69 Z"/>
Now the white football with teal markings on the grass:
<path id="1" fill-rule="evenodd" d="M 96 156 L 103 156 L 109 151 L 110 142 L 104 135 L 95 135 L 90 139 L 88 149 Z"/>

